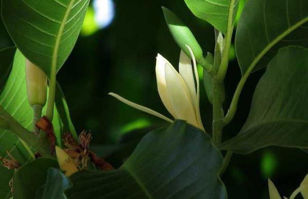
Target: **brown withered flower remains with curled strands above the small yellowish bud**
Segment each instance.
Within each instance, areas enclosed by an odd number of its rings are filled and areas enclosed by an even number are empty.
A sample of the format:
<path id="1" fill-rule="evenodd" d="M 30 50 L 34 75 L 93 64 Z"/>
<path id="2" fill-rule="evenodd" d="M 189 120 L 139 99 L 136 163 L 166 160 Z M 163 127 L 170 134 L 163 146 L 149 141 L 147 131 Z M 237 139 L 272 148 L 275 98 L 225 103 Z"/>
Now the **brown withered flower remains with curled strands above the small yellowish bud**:
<path id="1" fill-rule="evenodd" d="M 64 144 L 68 149 L 63 149 L 75 162 L 82 165 L 82 169 L 87 169 L 88 160 L 101 170 L 110 170 L 113 167 L 104 159 L 89 150 L 92 134 L 82 131 L 78 138 L 78 143 L 74 140 L 71 133 L 64 135 Z"/>

